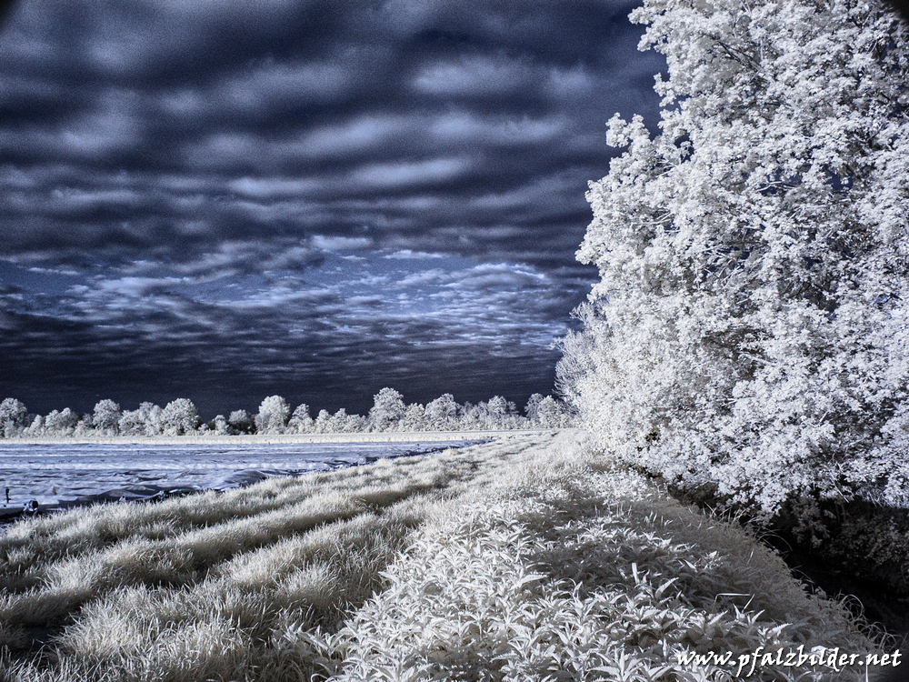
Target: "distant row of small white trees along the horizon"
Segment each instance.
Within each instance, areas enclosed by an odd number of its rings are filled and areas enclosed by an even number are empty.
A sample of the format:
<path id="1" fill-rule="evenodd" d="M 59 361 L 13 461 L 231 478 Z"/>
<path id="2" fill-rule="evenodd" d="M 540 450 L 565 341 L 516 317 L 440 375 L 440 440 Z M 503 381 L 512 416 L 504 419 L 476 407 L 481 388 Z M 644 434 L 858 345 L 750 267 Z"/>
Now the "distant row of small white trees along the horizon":
<path id="1" fill-rule="evenodd" d="M 268 396 L 255 415 L 235 410 L 203 421 L 191 400 L 178 398 L 161 407 L 142 403 L 138 409 L 122 410 L 113 400 L 101 400 L 85 415 L 69 407 L 41 416 L 29 413 L 15 398 L 0 403 L 0 437 L 38 436 L 183 436 L 210 434 L 331 434 L 369 431 L 483 431 L 514 428 L 569 426 L 564 405 L 553 396 L 534 393 L 519 414 L 513 402 L 494 396 L 476 405 L 459 405 L 446 393 L 421 405 L 405 404 L 394 388 L 375 396 L 367 416 L 348 414 L 344 407 L 335 414 L 321 410 L 311 416 L 308 405 L 293 411 L 281 396 Z"/>

